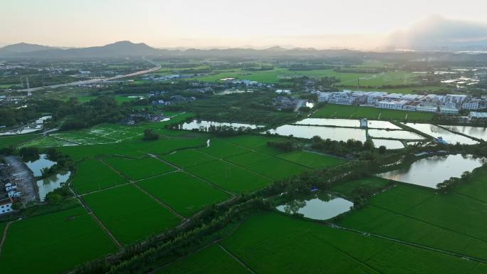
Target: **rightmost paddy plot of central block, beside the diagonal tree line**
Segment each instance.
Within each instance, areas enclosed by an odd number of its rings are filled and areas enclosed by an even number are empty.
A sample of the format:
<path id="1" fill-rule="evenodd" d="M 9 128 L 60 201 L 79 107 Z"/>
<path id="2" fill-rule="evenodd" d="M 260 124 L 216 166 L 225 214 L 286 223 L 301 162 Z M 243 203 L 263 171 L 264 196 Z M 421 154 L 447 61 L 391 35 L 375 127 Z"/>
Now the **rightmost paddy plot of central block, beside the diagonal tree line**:
<path id="1" fill-rule="evenodd" d="M 346 160 L 337 157 L 330 157 L 300 150 L 279 154 L 277 157 L 286 159 L 290 162 L 295 162 L 296 164 L 302 164 L 312 169 L 322 169 L 324 167 L 332 167 L 337 164 L 344 164 L 347 162 Z"/>

